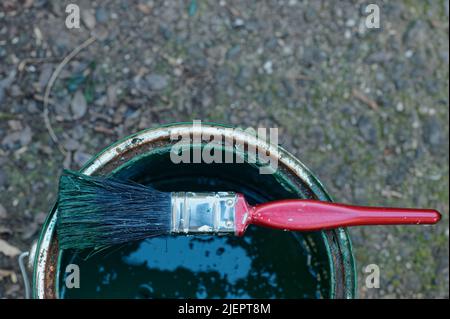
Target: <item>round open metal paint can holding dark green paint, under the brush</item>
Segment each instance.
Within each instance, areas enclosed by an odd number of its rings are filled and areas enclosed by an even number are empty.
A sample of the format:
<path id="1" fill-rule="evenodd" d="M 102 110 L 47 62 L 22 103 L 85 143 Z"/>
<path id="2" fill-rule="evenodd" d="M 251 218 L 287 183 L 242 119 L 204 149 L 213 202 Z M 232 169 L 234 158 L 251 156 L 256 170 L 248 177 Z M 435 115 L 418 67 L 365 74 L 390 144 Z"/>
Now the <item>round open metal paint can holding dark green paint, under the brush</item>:
<path id="1" fill-rule="evenodd" d="M 244 163 L 174 163 L 180 136 L 192 151 L 222 136 L 214 148 Z M 175 140 L 174 140 L 175 137 Z M 225 141 L 232 140 L 230 147 Z M 273 174 L 260 174 L 249 159 L 263 150 L 276 159 Z M 94 156 L 81 172 L 114 175 L 161 190 L 234 190 L 253 203 L 282 198 L 331 201 L 320 181 L 281 147 L 243 130 L 217 124 L 178 123 L 129 136 Z M 291 233 L 251 227 L 242 238 L 152 238 L 89 258 L 58 248 L 57 205 L 30 251 L 33 298 L 354 298 L 356 271 L 343 228 Z M 198 237 L 198 238 L 197 238 Z M 67 287 L 67 266 L 78 265 L 80 287 Z"/>

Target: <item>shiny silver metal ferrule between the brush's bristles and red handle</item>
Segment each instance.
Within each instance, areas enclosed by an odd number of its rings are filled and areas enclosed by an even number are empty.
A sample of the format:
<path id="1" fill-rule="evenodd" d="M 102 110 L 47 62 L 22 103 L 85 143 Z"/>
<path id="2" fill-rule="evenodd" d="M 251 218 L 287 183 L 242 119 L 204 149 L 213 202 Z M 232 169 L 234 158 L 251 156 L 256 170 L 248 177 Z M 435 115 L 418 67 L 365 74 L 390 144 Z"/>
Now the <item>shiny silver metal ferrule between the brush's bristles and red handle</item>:
<path id="1" fill-rule="evenodd" d="M 174 192 L 172 195 L 173 234 L 235 233 L 236 193 Z"/>

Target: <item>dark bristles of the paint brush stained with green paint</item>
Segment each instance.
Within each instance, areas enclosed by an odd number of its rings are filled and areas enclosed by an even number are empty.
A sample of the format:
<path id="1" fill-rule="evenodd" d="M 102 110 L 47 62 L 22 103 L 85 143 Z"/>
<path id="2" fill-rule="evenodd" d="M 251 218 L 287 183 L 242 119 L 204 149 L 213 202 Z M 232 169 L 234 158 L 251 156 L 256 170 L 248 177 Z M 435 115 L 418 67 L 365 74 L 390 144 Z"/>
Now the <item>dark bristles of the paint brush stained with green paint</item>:
<path id="1" fill-rule="evenodd" d="M 59 181 L 59 245 L 99 248 L 167 234 L 170 212 L 170 193 L 65 170 Z"/>

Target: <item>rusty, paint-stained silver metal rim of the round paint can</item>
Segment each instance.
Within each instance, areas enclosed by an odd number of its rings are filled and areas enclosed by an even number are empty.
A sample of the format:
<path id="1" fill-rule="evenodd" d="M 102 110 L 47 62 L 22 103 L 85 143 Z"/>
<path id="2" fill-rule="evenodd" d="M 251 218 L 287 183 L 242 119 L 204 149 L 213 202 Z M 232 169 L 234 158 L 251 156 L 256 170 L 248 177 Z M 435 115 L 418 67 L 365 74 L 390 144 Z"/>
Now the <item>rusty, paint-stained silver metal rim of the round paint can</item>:
<path id="1" fill-rule="evenodd" d="M 233 135 L 237 141 L 242 140 L 265 150 L 276 157 L 279 167 L 287 169 L 296 179 L 301 180 L 311 190 L 314 197 L 319 200 L 332 201 L 322 183 L 311 171 L 295 156 L 280 146 L 274 146 L 257 139 L 242 130 L 233 130 L 228 125 L 217 123 L 202 123 L 201 133 Z M 157 128 L 146 129 L 125 137 L 108 146 L 93 156 L 80 171 L 87 175 L 100 172 L 111 172 L 116 167 L 133 159 L 133 154 L 140 147 L 149 143 L 158 143 L 169 140 L 171 134 L 199 133 L 195 131 L 191 122 L 162 125 Z M 177 135 L 178 134 L 178 135 Z M 128 159 L 127 159 L 128 157 Z M 281 164 L 281 165 L 280 165 Z M 37 243 L 33 269 L 33 298 L 58 298 L 59 271 L 58 243 L 55 236 L 57 220 L 57 205 L 55 204 L 40 233 Z M 353 258 L 352 245 L 349 234 L 345 228 L 337 228 L 320 232 L 324 242 L 328 265 L 330 267 L 330 294 L 329 298 L 355 298 L 356 297 L 356 271 Z"/>

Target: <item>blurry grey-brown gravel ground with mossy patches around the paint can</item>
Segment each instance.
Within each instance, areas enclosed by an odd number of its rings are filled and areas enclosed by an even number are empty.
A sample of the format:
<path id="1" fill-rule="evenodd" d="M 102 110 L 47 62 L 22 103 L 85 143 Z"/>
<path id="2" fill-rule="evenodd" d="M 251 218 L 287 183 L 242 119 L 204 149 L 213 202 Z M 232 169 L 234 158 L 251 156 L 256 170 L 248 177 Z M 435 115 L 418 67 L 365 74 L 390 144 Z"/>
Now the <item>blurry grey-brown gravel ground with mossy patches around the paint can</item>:
<path id="1" fill-rule="evenodd" d="M 449 297 L 449 2 L 65 1 L 0 4 L 0 297 L 37 237 L 57 176 L 120 137 L 201 119 L 278 127 L 334 199 L 433 207 L 437 226 L 351 229 L 361 298 Z M 58 64 L 49 118 L 45 88 Z M 363 269 L 381 269 L 380 289 Z"/>

